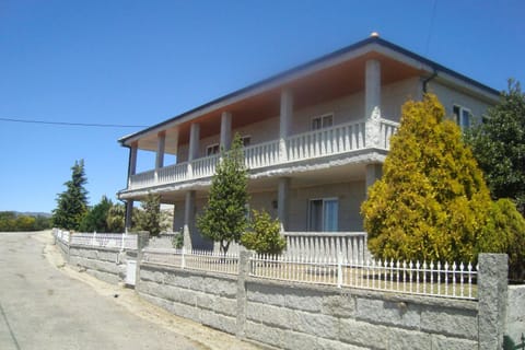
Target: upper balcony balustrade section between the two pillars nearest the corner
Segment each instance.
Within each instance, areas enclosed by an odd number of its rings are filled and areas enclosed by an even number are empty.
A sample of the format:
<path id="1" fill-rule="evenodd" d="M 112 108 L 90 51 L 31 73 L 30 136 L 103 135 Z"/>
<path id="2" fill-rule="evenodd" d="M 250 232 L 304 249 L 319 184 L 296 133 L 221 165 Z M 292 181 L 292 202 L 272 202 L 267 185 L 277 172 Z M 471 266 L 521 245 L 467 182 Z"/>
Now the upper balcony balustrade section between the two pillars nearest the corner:
<path id="1" fill-rule="evenodd" d="M 364 121 L 319 129 L 287 139 L 288 161 L 349 152 L 364 148 Z"/>

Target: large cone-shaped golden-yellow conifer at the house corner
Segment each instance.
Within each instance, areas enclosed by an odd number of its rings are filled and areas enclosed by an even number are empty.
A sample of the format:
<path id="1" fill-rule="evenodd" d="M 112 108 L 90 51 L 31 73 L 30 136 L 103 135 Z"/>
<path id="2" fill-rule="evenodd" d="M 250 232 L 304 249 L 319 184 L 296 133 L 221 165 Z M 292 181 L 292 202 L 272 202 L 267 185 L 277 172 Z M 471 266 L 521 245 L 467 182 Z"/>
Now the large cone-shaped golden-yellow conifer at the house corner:
<path id="1" fill-rule="evenodd" d="M 438 98 L 407 102 L 383 178 L 361 207 L 372 254 L 474 261 L 490 208 L 482 173 Z"/>

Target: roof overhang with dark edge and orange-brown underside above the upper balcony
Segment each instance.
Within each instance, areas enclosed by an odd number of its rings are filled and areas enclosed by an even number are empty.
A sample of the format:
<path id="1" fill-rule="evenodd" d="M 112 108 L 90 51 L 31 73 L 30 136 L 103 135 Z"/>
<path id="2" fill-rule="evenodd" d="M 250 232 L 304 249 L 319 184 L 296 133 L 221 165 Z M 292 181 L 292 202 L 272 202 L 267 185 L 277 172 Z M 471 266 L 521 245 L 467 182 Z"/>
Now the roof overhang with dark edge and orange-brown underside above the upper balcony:
<path id="1" fill-rule="evenodd" d="M 255 122 L 257 118 L 277 116 L 283 88 L 292 89 L 298 108 L 359 92 L 364 89 L 364 65 L 369 59 L 380 60 L 382 84 L 409 77 L 432 77 L 488 103 L 499 100 L 498 91 L 374 36 L 122 137 L 119 142 L 124 147 L 136 143 L 140 149 L 154 151 L 159 132 L 165 132 L 166 138 L 176 135 L 178 142 L 187 142 L 190 122 L 196 119 L 201 124 L 201 137 L 211 135 L 219 128 L 218 115 L 222 112 L 228 110 L 235 116 L 234 127 Z M 314 85 L 315 89 L 312 89 Z M 176 152 L 176 144 L 166 143 L 165 151 Z"/>

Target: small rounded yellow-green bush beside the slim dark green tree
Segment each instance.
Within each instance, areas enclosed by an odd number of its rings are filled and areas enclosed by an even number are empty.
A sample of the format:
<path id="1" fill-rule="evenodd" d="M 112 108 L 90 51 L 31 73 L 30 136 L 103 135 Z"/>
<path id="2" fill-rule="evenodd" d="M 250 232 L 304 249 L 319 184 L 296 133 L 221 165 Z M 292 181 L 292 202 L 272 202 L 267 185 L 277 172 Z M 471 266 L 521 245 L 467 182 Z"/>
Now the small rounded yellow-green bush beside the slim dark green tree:
<path id="1" fill-rule="evenodd" d="M 241 236 L 241 244 L 258 254 L 281 254 L 287 241 L 281 236 L 279 220 L 271 220 L 265 210 L 253 210 L 252 231 Z"/>

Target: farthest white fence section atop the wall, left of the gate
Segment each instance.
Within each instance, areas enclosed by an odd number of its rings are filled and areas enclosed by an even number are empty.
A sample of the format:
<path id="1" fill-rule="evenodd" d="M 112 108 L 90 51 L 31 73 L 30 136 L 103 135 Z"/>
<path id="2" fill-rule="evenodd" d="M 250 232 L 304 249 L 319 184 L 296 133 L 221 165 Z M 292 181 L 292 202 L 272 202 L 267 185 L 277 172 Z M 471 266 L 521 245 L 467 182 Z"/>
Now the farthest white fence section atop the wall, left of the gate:
<path id="1" fill-rule="evenodd" d="M 68 245 L 106 247 L 119 249 L 137 249 L 137 235 L 127 233 L 70 233 L 54 229 L 57 240 Z"/>

